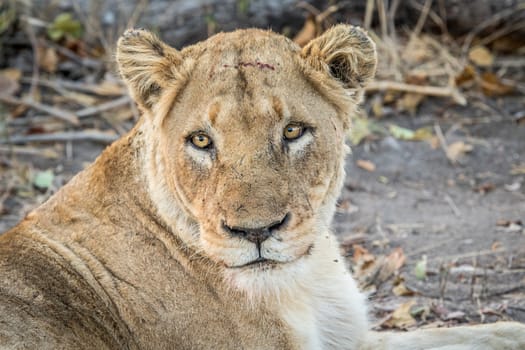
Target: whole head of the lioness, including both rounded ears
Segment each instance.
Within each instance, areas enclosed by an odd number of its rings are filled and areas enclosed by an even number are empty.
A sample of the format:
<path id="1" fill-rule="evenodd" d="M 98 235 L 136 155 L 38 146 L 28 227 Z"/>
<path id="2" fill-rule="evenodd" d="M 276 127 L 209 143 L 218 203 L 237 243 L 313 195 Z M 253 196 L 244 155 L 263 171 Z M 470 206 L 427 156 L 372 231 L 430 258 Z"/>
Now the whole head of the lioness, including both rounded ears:
<path id="1" fill-rule="evenodd" d="M 349 26 L 302 51 L 259 30 L 182 52 L 128 32 L 118 61 L 150 125 L 149 182 L 164 219 L 230 275 L 308 259 L 328 231 L 349 114 L 375 60 Z"/>

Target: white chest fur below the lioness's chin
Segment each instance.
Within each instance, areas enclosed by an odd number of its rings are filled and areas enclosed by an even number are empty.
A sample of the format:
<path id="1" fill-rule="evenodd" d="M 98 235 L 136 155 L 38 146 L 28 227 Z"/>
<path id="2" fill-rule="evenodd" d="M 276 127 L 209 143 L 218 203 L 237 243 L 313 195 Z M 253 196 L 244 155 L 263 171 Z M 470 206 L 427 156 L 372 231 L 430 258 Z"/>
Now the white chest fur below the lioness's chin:
<path id="1" fill-rule="evenodd" d="M 366 334 L 364 296 L 346 271 L 332 235 L 316 242 L 304 280 L 283 294 L 276 306 L 301 349 L 357 349 Z"/>

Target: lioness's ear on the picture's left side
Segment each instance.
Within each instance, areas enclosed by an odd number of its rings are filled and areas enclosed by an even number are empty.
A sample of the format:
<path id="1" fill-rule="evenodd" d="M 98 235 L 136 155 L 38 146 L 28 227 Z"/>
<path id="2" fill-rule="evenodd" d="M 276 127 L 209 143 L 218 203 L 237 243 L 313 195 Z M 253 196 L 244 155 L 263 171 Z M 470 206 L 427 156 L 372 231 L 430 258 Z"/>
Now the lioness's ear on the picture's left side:
<path id="1" fill-rule="evenodd" d="M 151 110 L 161 91 L 177 78 L 180 53 L 153 33 L 129 29 L 117 44 L 117 63 L 122 79 L 139 106 Z"/>

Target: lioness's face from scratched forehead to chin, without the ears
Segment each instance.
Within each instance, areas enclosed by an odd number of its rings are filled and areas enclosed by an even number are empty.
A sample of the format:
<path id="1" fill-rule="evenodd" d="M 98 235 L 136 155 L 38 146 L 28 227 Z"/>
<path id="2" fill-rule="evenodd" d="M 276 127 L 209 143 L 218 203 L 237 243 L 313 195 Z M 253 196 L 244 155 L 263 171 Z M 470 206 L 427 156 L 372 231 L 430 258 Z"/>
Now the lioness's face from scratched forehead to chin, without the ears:
<path id="1" fill-rule="evenodd" d="M 291 65 L 282 56 L 233 59 Z M 320 209 L 337 191 L 342 122 L 298 70 L 280 79 L 279 68 L 227 57 L 203 86 L 211 60 L 202 57 L 164 120 L 166 181 L 212 259 L 236 269 L 293 262 L 326 225 Z"/>

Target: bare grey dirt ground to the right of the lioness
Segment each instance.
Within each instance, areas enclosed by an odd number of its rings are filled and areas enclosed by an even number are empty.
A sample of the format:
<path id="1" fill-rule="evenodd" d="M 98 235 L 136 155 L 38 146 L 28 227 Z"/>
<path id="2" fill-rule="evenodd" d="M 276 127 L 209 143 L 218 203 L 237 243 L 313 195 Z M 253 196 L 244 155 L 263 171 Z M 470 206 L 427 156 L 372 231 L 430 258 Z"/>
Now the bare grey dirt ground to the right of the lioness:
<path id="1" fill-rule="evenodd" d="M 503 114 L 433 101 L 414 117 L 386 121 L 440 125 L 447 141 L 473 145 L 457 165 L 426 142 L 391 136 L 353 148 L 336 231 L 345 247 L 357 242 L 376 255 L 401 247 L 406 256 L 399 275 L 379 281 L 371 294 L 379 321 L 415 299 L 426 313 L 419 324 L 525 322 L 525 176 L 513 171 L 525 164 L 525 126 L 512 118 L 523 111 L 523 98 L 500 102 Z M 376 170 L 361 169 L 357 160 Z M 424 257 L 426 277 L 418 279 L 414 269 Z M 414 296 L 392 293 L 400 281 Z"/>

